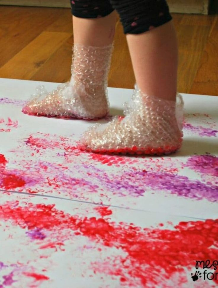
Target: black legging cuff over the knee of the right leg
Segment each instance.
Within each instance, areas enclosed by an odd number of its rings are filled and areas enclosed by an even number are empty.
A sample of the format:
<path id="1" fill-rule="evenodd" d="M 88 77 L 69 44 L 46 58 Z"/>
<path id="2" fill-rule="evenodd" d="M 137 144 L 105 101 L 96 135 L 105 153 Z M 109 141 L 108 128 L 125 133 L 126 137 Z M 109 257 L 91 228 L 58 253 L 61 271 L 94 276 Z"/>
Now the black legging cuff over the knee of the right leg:
<path id="1" fill-rule="evenodd" d="M 124 33 L 140 34 L 172 19 L 165 0 L 110 0 L 120 15 Z"/>

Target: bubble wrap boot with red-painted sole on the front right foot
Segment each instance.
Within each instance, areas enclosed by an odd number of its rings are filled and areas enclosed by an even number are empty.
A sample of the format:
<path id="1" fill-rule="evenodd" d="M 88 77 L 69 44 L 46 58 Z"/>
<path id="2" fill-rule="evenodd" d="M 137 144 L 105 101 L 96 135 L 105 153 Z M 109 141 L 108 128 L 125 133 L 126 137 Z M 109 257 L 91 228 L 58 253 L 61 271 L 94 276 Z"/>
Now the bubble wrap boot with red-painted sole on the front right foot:
<path id="1" fill-rule="evenodd" d="M 162 155 L 182 144 L 183 100 L 163 100 L 143 94 L 137 86 L 125 117 L 115 116 L 106 124 L 87 130 L 78 144 L 81 150 L 98 153 Z"/>

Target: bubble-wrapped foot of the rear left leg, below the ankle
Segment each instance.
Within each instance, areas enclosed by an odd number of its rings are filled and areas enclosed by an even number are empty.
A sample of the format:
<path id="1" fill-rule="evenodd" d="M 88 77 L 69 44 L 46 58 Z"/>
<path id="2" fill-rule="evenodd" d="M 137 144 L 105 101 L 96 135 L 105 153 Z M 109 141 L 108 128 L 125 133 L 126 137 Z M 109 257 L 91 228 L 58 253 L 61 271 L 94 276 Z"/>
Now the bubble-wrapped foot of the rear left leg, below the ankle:
<path id="1" fill-rule="evenodd" d="M 28 100 L 22 112 L 36 116 L 60 118 L 98 119 L 108 114 L 107 91 L 92 95 L 83 84 L 61 84 L 56 90 L 47 92 L 43 86 L 36 89 L 38 95 Z"/>

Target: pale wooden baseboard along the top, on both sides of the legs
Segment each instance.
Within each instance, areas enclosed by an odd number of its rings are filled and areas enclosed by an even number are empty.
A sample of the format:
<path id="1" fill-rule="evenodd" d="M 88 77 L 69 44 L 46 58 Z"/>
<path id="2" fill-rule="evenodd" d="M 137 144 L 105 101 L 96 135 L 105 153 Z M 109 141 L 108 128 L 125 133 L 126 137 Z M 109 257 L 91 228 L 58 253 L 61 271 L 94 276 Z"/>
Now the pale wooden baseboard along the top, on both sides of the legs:
<path id="1" fill-rule="evenodd" d="M 211 0 L 168 0 L 174 13 L 208 14 Z M 0 0 L 0 5 L 70 8 L 69 0 Z"/>

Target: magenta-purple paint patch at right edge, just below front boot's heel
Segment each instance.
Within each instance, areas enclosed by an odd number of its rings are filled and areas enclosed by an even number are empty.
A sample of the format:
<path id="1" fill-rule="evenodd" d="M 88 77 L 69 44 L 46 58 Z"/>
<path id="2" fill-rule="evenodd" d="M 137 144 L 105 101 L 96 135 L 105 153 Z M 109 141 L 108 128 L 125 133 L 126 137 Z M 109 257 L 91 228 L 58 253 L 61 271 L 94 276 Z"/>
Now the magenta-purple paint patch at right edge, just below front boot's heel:
<path id="1" fill-rule="evenodd" d="M 212 155 L 196 155 L 190 157 L 184 165 L 196 172 L 218 176 L 218 157 Z"/>

